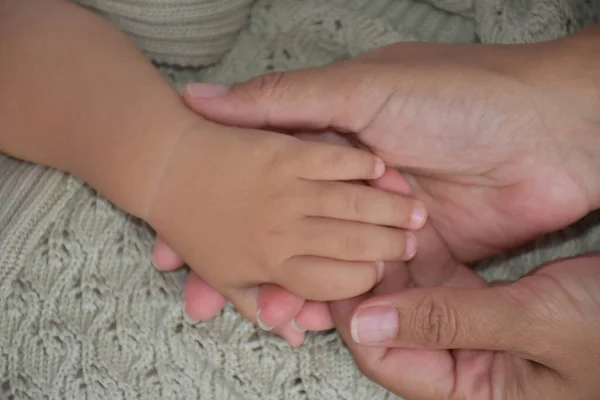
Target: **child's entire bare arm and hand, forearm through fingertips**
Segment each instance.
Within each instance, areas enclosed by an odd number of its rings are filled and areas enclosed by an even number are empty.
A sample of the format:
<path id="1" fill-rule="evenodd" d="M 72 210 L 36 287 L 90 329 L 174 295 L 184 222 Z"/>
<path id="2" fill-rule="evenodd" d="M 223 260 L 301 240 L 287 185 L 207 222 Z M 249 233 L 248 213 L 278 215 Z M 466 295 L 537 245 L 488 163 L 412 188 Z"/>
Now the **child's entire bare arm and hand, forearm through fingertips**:
<path id="1" fill-rule="evenodd" d="M 203 119 L 73 2 L 0 1 L 0 60 L 0 152 L 75 175 L 146 221 L 202 278 L 192 284 L 251 321 L 267 284 L 349 298 L 416 252 L 423 204 L 352 183 L 384 175 L 381 159 Z"/>

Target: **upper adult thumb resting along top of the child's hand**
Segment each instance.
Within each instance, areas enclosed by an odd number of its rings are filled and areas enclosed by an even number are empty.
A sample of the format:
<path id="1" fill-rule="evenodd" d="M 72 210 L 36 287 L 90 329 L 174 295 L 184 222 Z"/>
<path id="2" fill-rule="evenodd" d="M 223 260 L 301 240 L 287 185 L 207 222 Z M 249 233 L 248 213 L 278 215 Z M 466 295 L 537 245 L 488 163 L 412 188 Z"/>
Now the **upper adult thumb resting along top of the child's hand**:
<path id="1" fill-rule="evenodd" d="M 192 83 L 184 99 L 192 110 L 227 125 L 359 132 L 392 90 L 368 68 L 375 66 L 346 62 L 269 73 L 231 87 Z"/>

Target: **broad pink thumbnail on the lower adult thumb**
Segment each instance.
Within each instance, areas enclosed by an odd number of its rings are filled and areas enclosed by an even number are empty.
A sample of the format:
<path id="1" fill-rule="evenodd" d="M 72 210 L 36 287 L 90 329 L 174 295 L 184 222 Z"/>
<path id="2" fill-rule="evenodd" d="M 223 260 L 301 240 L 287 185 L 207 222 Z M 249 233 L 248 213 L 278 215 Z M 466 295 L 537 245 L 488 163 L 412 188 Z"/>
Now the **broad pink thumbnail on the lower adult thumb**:
<path id="1" fill-rule="evenodd" d="M 391 306 L 361 308 L 352 317 L 350 333 L 356 343 L 378 344 L 398 337 L 398 312 Z"/>

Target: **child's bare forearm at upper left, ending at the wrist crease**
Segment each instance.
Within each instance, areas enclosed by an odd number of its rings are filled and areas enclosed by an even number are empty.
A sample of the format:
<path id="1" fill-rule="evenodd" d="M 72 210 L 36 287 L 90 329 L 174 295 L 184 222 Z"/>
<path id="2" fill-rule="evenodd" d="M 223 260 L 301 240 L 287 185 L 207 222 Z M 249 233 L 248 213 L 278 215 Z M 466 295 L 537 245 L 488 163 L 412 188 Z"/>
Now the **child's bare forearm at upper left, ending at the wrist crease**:
<path id="1" fill-rule="evenodd" d="M 140 214 L 162 157 L 197 120 L 103 19 L 68 1 L 0 0 L 0 151 Z"/>

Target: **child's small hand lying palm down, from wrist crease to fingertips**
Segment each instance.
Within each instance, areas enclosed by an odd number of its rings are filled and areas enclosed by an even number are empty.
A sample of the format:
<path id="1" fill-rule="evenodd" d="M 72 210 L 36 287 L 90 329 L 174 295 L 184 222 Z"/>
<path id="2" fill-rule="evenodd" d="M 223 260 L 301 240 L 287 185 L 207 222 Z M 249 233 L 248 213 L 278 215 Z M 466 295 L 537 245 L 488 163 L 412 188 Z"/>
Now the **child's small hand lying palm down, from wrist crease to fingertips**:
<path id="1" fill-rule="evenodd" d="M 397 228 L 423 224 L 421 203 L 340 182 L 383 170 L 357 149 L 201 121 L 172 151 L 147 220 L 255 320 L 256 285 L 347 298 L 378 281 L 381 261 L 414 255 L 414 236 Z"/>

